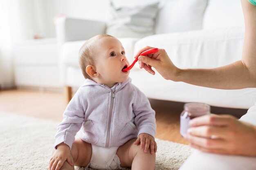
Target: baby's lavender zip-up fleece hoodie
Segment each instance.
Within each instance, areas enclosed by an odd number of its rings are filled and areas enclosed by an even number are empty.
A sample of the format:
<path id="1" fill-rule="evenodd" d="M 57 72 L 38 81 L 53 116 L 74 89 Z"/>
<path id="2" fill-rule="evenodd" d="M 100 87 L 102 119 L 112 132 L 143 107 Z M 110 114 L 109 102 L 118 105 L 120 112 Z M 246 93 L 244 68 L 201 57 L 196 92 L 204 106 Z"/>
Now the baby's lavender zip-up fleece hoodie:
<path id="1" fill-rule="evenodd" d="M 155 111 L 130 77 L 112 88 L 86 79 L 57 129 L 55 147 L 64 142 L 71 149 L 77 132 L 90 144 L 121 146 L 141 133 L 155 137 Z"/>

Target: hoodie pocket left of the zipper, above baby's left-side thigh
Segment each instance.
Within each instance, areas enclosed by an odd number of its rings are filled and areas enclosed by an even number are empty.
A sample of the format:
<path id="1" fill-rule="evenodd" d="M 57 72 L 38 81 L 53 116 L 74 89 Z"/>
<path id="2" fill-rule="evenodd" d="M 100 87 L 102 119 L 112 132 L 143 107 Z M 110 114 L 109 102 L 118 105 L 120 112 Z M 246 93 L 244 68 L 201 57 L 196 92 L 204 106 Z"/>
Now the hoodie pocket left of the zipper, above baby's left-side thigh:
<path id="1" fill-rule="evenodd" d="M 82 126 L 82 130 L 84 132 L 83 138 L 85 141 L 88 141 L 91 144 L 97 144 L 99 141 L 99 135 L 91 120 L 85 121 Z"/>

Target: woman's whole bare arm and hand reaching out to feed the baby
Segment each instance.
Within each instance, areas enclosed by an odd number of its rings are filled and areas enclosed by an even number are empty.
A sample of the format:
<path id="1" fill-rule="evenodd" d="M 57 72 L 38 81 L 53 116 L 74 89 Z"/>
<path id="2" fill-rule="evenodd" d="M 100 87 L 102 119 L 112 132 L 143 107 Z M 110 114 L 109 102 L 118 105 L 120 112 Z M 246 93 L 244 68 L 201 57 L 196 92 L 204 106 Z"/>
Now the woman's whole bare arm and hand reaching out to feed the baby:
<path id="1" fill-rule="evenodd" d="M 197 86 L 220 89 L 239 89 L 256 87 L 256 6 L 248 0 L 241 0 L 245 18 L 245 39 L 242 60 L 211 69 L 180 69 L 169 59 L 163 49 L 158 53 L 140 56 L 139 64 L 151 74 L 153 66 L 165 79 L 185 82 Z M 141 51 L 150 49 L 145 47 Z M 141 53 L 139 51 L 136 57 Z"/>

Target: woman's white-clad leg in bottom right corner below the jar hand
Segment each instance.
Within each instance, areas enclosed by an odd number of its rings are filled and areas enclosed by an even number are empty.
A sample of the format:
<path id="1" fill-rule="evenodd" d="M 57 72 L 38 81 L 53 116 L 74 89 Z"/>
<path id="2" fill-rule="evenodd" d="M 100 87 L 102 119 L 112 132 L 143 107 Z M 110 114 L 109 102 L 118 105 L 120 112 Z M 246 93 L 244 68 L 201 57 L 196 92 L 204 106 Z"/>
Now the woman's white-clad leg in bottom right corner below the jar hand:
<path id="1" fill-rule="evenodd" d="M 221 155 L 195 150 L 180 170 L 256 170 L 256 157 Z"/>

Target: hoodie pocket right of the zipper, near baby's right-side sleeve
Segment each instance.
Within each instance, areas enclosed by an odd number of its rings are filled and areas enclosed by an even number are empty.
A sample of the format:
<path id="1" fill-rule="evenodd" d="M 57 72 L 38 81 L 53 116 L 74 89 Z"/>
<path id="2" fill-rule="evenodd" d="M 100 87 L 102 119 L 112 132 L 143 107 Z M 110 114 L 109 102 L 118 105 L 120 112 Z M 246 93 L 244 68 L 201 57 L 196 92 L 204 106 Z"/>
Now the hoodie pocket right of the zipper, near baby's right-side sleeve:
<path id="1" fill-rule="evenodd" d="M 124 126 L 124 128 L 120 131 L 117 141 L 120 145 L 123 145 L 130 139 L 137 138 L 137 135 L 138 135 L 138 130 L 135 124 L 129 121 Z"/>

